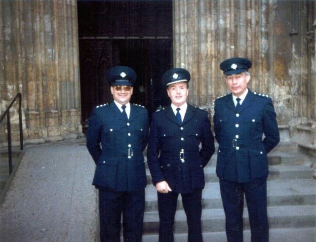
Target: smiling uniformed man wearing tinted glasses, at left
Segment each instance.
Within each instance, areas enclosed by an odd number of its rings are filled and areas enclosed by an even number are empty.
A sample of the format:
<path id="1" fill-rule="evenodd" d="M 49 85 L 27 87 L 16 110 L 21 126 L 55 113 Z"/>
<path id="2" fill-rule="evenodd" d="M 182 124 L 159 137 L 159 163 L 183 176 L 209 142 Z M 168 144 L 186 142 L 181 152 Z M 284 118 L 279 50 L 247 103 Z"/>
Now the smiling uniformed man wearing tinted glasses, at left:
<path id="1" fill-rule="evenodd" d="M 119 242 L 123 214 L 124 241 L 141 242 L 148 114 L 129 103 L 136 81 L 133 69 L 116 66 L 107 80 L 114 101 L 93 110 L 87 130 L 87 148 L 96 163 L 92 184 L 99 190 L 100 241 Z"/>

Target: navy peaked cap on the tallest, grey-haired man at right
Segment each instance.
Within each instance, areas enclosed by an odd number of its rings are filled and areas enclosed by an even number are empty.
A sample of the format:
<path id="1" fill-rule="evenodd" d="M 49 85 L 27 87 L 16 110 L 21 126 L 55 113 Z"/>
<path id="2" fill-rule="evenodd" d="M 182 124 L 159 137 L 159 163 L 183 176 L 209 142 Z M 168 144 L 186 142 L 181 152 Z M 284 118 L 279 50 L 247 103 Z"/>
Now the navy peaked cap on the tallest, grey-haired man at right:
<path id="1" fill-rule="evenodd" d="M 248 71 L 252 66 L 250 60 L 246 58 L 230 58 L 224 60 L 220 65 L 219 68 L 223 71 L 225 75 L 233 75 L 239 74 L 242 72 Z"/>

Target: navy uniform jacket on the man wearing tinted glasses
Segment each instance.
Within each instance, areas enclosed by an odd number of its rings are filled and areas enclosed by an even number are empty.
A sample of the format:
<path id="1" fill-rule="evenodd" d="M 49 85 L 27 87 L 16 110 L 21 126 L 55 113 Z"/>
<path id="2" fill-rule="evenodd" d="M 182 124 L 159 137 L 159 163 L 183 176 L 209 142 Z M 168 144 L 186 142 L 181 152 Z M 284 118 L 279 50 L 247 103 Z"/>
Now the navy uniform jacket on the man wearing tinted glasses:
<path id="1" fill-rule="evenodd" d="M 148 113 L 130 105 L 128 120 L 114 102 L 98 106 L 89 118 L 87 148 L 96 163 L 92 184 L 97 188 L 133 191 L 146 186 L 142 152 L 148 141 Z"/>

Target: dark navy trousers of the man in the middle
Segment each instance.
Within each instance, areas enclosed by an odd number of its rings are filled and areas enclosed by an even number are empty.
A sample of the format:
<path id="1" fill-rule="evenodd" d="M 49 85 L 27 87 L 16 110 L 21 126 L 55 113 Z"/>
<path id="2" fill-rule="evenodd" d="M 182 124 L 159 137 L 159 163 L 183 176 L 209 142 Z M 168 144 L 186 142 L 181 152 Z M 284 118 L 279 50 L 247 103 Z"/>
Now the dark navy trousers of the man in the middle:
<path id="1" fill-rule="evenodd" d="M 173 242 L 173 224 L 179 193 L 158 193 L 159 242 Z M 188 242 L 202 242 L 202 190 L 181 194 L 187 215 Z"/>

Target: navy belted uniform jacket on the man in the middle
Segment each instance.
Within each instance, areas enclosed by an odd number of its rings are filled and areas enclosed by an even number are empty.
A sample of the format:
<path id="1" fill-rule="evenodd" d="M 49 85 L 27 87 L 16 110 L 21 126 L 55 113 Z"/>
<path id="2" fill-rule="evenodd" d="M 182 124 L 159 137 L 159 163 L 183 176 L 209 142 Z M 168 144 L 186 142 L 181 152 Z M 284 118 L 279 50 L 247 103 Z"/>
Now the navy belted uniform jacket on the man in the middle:
<path id="1" fill-rule="evenodd" d="M 153 113 L 149 136 L 147 158 L 154 185 L 165 180 L 176 193 L 204 187 L 203 167 L 215 151 L 206 111 L 188 105 L 180 125 L 168 106 Z"/>

